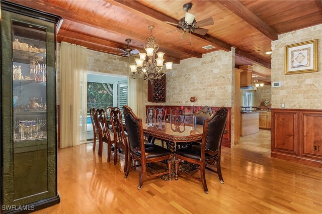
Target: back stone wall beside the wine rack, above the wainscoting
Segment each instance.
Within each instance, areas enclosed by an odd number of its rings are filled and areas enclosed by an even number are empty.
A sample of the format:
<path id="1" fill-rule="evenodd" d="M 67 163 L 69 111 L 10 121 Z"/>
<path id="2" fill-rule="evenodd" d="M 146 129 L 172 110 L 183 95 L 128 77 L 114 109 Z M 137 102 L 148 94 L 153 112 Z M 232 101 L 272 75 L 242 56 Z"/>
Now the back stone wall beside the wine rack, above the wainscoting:
<path id="1" fill-rule="evenodd" d="M 180 64 L 173 65 L 173 75 L 167 76 L 166 102 L 146 101 L 146 104 L 190 105 L 190 97 L 195 96 L 194 105 L 234 106 L 234 55 L 232 48 L 229 52 L 204 54 L 201 59 L 181 60 Z M 233 142 L 234 120 L 231 119 Z"/>

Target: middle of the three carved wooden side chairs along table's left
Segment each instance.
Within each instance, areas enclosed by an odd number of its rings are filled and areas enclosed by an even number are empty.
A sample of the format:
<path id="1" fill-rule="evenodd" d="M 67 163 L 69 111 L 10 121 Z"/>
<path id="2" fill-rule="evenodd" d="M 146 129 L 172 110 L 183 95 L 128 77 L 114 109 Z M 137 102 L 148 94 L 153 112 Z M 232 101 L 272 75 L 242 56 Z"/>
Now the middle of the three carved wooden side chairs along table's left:
<path id="1" fill-rule="evenodd" d="M 103 142 L 107 143 L 107 162 L 111 161 L 111 146 L 114 143 L 114 133 L 107 128 L 106 114 L 104 109 L 96 110 L 99 128 L 99 156 L 103 154 Z"/>

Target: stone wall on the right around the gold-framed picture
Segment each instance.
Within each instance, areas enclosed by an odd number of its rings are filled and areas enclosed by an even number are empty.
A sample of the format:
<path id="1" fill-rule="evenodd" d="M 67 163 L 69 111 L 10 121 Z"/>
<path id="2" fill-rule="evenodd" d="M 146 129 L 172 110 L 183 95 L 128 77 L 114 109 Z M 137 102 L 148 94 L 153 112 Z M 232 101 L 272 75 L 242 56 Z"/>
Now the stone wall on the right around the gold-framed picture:
<path id="1" fill-rule="evenodd" d="M 322 24 L 281 34 L 272 41 L 272 108 L 322 109 Z M 318 72 L 285 75 L 285 46 L 318 39 Z"/>

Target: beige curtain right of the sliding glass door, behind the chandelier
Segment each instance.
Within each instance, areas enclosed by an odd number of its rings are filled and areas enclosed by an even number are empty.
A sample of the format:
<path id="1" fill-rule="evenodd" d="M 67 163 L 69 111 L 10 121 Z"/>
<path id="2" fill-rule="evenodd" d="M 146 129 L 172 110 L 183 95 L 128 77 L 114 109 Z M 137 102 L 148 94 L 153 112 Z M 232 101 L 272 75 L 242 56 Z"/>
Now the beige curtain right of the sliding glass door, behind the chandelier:
<path id="1" fill-rule="evenodd" d="M 139 118 L 145 118 L 145 86 L 146 81 L 141 77 L 132 78 L 132 72 L 129 65 L 135 63 L 134 57 L 127 58 L 128 89 L 127 105 L 133 110 Z M 143 120 L 144 121 L 144 120 Z"/>

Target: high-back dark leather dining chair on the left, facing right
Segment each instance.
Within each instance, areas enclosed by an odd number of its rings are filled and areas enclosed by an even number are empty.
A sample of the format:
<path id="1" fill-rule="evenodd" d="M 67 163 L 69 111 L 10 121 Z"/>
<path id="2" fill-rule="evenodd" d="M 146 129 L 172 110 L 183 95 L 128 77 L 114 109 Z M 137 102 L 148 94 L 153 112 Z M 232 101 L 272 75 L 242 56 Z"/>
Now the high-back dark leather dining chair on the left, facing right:
<path id="1" fill-rule="evenodd" d="M 171 152 L 161 146 L 144 143 L 142 119 L 136 117 L 129 106 L 123 106 L 123 114 L 129 145 L 129 161 L 125 178 L 127 178 L 132 165 L 132 160 L 134 160 L 135 162 L 141 162 L 140 165 L 134 165 L 134 167 L 141 166 L 141 175 L 137 186 L 138 189 L 142 188 L 143 181 L 148 178 L 169 174 L 169 180 L 171 180 Z M 168 170 L 165 172 L 159 172 L 149 167 L 149 165 L 152 166 L 152 164 L 148 163 L 159 161 L 168 161 Z M 153 174 L 146 175 L 146 168 L 150 169 Z"/>

